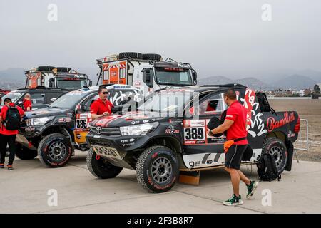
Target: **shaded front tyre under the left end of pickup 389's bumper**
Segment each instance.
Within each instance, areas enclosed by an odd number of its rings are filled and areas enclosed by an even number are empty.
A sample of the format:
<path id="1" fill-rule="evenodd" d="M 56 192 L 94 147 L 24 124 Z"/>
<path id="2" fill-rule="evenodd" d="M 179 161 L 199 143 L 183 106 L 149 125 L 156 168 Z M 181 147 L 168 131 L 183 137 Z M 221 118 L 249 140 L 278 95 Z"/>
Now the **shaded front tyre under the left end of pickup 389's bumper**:
<path id="1" fill-rule="evenodd" d="M 111 165 L 111 163 L 104 160 L 103 157 L 99 157 L 97 160 L 96 152 L 94 152 L 93 149 L 88 151 L 86 162 L 91 174 L 101 179 L 114 178 L 123 170 L 122 167 Z"/>

